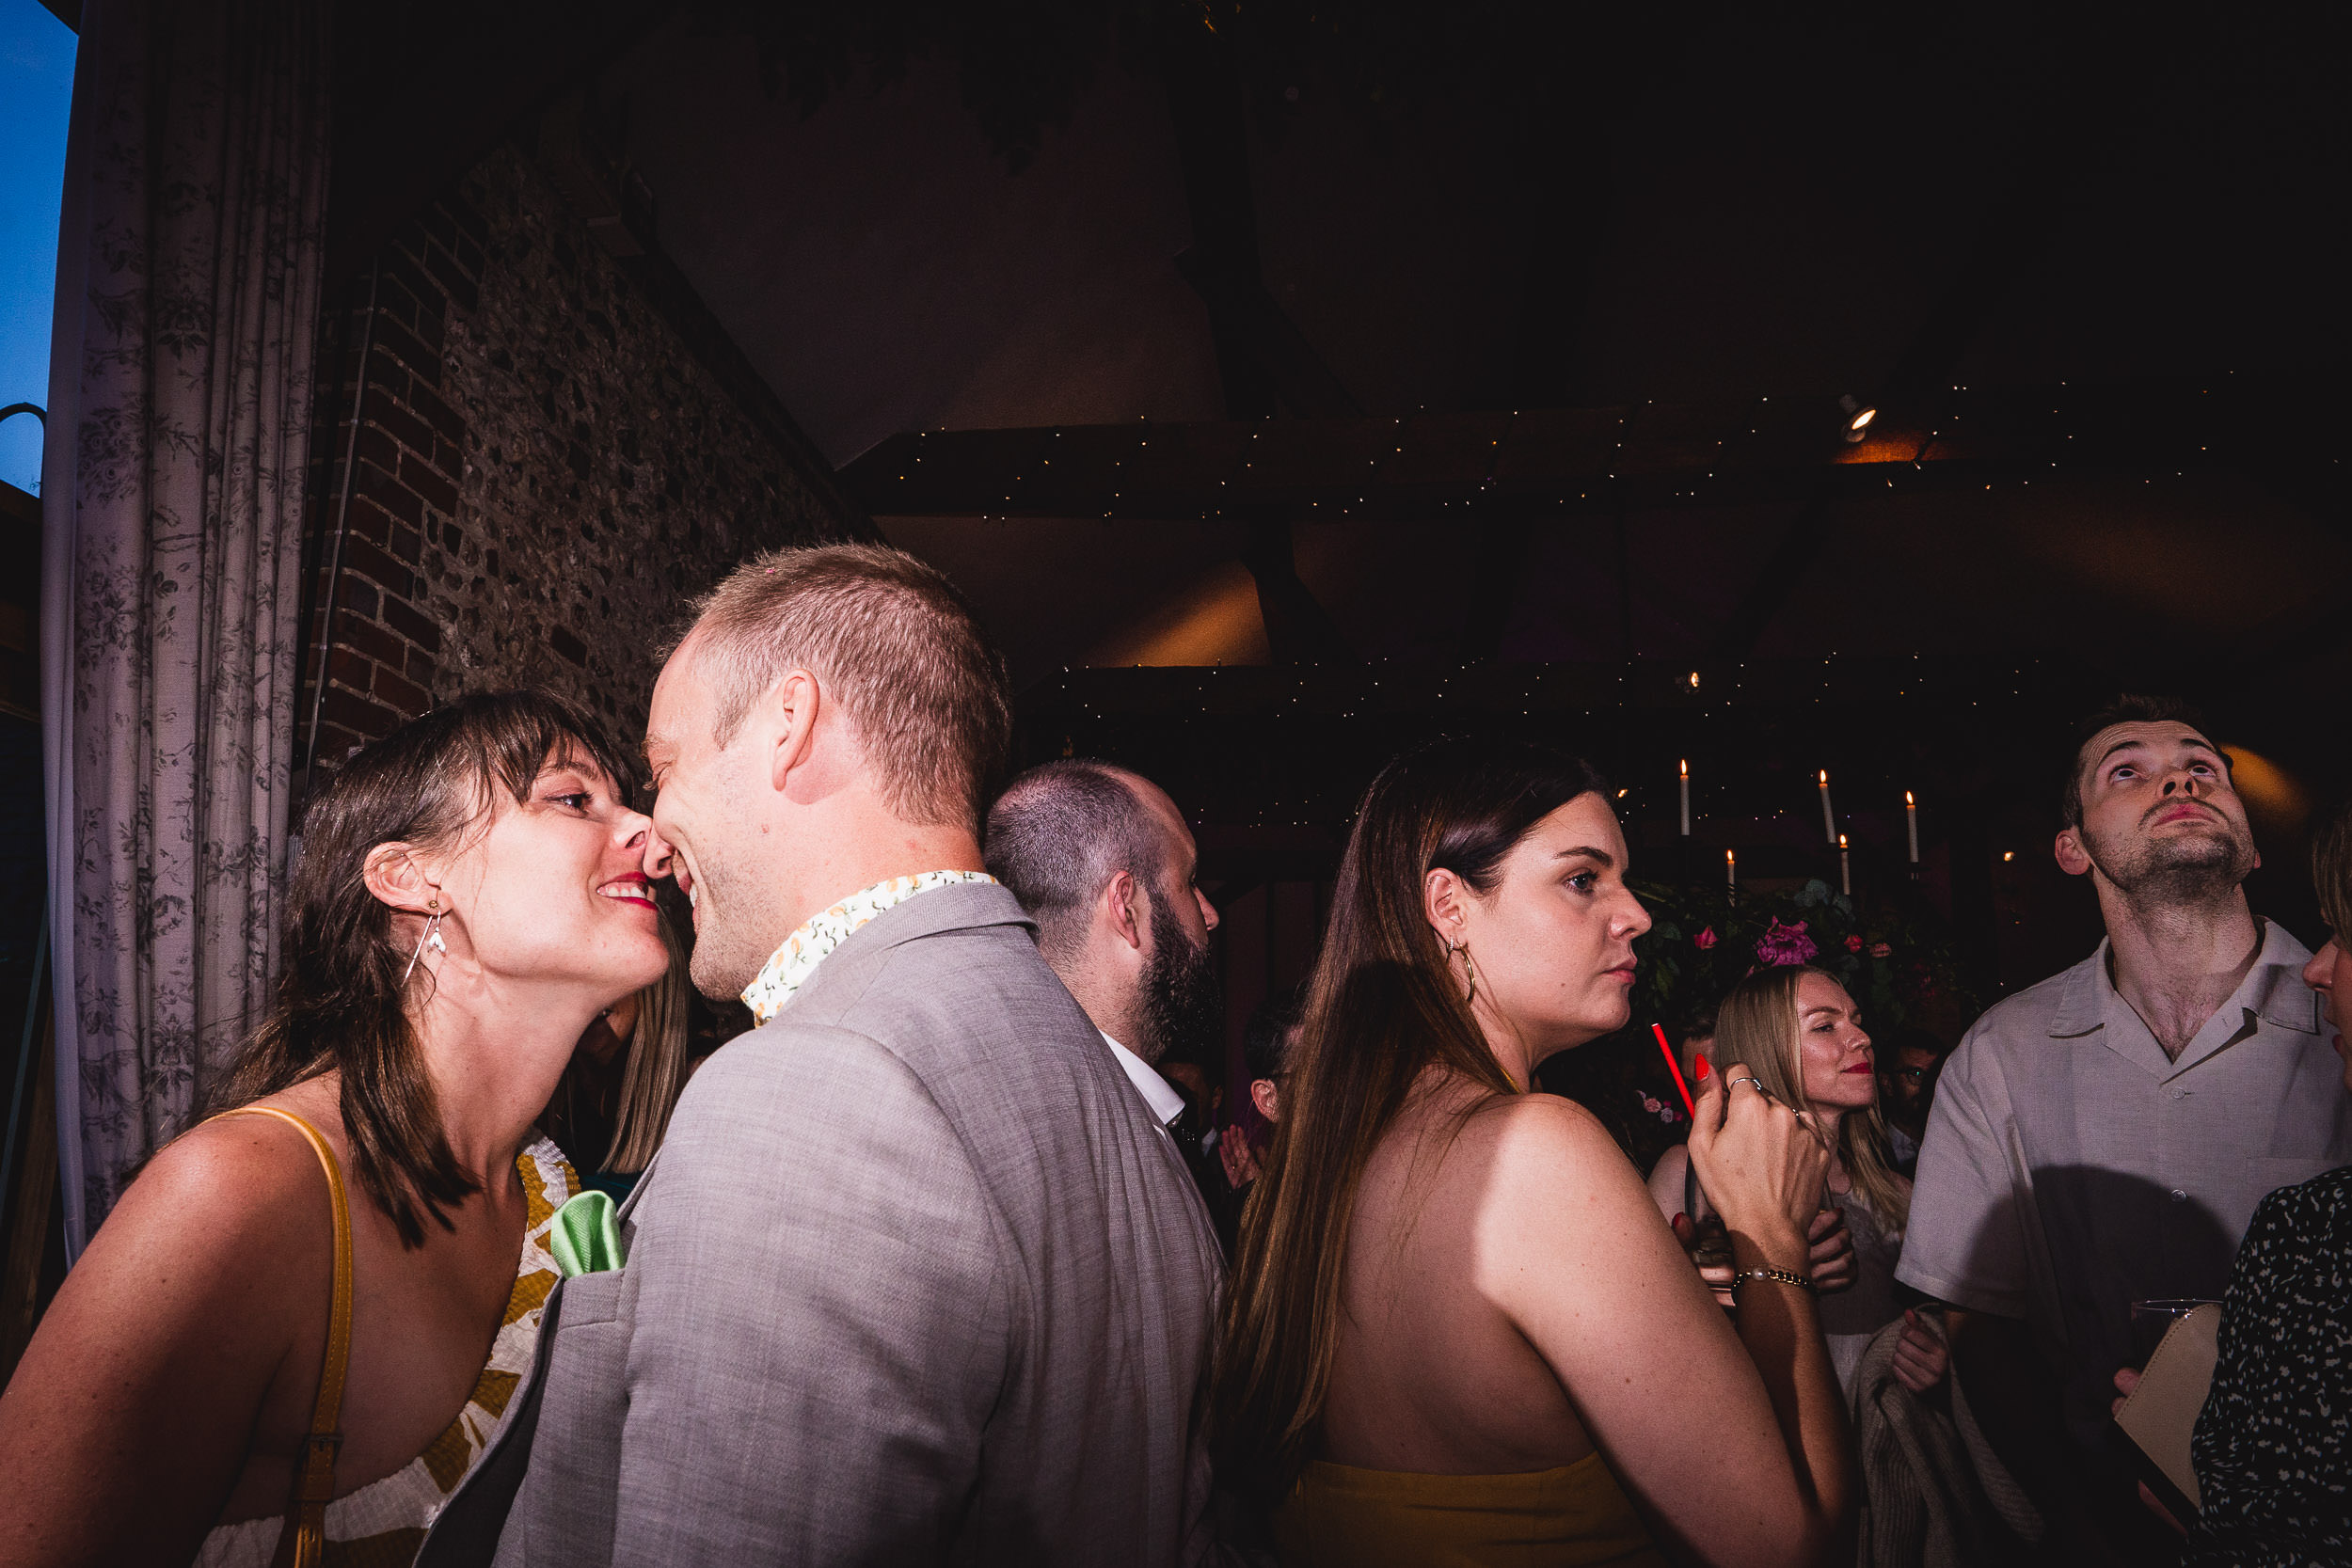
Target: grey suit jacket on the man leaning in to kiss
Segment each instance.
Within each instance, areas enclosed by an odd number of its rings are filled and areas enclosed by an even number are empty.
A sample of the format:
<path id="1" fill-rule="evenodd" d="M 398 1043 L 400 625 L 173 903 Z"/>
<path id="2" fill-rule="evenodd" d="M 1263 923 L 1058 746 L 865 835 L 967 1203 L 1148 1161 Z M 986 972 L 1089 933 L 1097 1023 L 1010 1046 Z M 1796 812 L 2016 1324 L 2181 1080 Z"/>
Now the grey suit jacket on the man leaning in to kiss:
<path id="1" fill-rule="evenodd" d="M 1190 1563 L 1221 1255 L 990 884 L 689 1081 L 419 1563 Z"/>

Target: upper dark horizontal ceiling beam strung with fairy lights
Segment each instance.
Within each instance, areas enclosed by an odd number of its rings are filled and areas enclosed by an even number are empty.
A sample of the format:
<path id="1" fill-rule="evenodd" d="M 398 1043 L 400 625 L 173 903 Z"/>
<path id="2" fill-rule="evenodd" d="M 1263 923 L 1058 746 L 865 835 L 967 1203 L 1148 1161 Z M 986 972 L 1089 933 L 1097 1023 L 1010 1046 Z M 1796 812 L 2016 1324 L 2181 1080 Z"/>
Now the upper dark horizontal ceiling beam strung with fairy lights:
<path id="1" fill-rule="evenodd" d="M 2260 482 L 2281 465 L 2333 470 L 2347 402 L 2338 378 L 2317 374 L 1964 388 L 1933 428 L 1889 411 L 1851 447 L 1830 397 L 934 430 L 889 437 L 849 463 L 842 482 L 875 517 L 1284 515 L 1468 529 L 1501 517 L 1809 508 L 2082 470 L 2218 468 Z"/>

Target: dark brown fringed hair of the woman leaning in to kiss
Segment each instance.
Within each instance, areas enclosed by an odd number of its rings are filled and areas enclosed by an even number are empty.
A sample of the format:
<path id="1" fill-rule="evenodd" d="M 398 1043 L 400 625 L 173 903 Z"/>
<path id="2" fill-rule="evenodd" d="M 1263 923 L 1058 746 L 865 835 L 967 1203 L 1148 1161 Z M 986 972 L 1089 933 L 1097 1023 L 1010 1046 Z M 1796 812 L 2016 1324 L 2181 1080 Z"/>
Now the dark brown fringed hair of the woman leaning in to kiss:
<path id="1" fill-rule="evenodd" d="M 437 708 L 362 748 L 320 788 L 287 886 L 278 1004 L 207 1107 L 233 1110 L 341 1072 L 353 1175 L 405 1246 L 423 1246 L 426 1215 L 454 1229 L 447 1211 L 480 1182 L 459 1168 L 442 1133 L 409 1023 L 414 936 L 395 940 L 390 905 L 367 891 L 367 853 L 379 844 L 463 844 L 489 825 L 499 790 L 529 799 L 550 762 L 595 764 L 628 797 L 628 762 L 586 712 L 541 691 Z M 419 971 L 416 985 L 428 973 Z"/>

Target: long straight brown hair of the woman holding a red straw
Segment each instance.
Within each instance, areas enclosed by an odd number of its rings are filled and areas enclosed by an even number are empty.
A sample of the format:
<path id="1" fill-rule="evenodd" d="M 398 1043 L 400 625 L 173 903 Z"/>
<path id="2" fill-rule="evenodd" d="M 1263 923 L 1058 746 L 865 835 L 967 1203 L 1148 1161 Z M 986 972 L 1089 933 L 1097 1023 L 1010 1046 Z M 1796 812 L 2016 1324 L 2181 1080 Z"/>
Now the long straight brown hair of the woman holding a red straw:
<path id="1" fill-rule="evenodd" d="M 1446 969 L 1423 912 L 1428 875 L 1451 870 L 1486 893 L 1538 820 L 1592 792 L 1602 778 L 1576 757 L 1468 738 L 1397 757 L 1364 792 L 1221 1314 L 1218 1462 L 1265 1500 L 1289 1488 L 1315 1443 L 1348 1220 L 1374 1147 L 1430 1067 L 1489 1098 L 1519 1091 Z"/>

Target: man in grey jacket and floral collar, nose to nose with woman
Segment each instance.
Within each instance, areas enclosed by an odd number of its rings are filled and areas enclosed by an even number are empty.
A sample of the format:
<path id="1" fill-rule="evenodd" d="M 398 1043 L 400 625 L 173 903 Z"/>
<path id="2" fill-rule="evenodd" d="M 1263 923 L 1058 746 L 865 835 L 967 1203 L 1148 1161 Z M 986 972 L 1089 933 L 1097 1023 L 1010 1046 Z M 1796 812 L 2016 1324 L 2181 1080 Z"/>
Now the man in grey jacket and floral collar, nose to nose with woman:
<path id="1" fill-rule="evenodd" d="M 421 1561 L 1190 1563 L 1218 1251 L 981 870 L 1002 661 L 894 550 L 753 559 L 654 689 L 647 870 L 760 1027 L 689 1081 Z"/>

